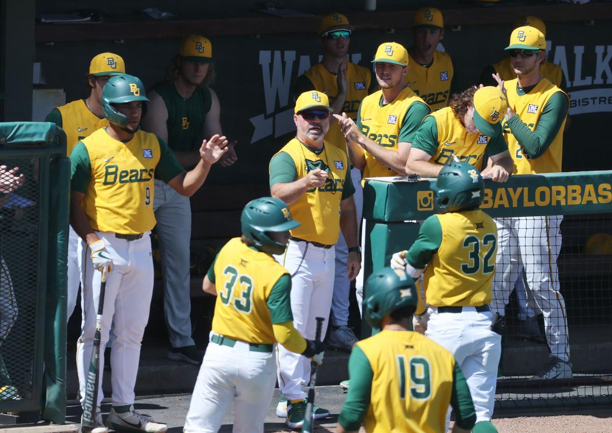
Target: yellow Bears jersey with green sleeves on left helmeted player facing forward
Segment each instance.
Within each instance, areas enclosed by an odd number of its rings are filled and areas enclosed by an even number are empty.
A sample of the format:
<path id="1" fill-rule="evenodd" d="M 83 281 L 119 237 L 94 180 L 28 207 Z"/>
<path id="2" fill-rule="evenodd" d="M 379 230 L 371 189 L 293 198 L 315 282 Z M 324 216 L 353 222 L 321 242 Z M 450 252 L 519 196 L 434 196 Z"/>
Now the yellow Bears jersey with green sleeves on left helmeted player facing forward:
<path id="1" fill-rule="evenodd" d="M 183 171 L 168 145 L 143 130 L 122 143 L 99 129 L 77 143 L 70 160 L 71 188 L 85 195 L 83 210 L 91 228 L 123 235 L 155 226 L 156 171 L 166 183 Z"/>

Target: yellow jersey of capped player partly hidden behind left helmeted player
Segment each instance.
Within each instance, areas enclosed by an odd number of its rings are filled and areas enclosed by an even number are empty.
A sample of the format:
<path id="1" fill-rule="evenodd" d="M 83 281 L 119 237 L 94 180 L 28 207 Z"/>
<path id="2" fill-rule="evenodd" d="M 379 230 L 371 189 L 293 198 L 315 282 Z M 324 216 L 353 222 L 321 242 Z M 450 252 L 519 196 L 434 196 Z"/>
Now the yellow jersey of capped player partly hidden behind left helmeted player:
<path id="1" fill-rule="evenodd" d="M 56 107 L 62 115 L 62 129 L 66 133 L 68 156 L 78 141 L 93 134 L 96 130 L 108 126 L 108 119 L 94 115 L 83 99 L 73 100 L 66 105 Z"/>

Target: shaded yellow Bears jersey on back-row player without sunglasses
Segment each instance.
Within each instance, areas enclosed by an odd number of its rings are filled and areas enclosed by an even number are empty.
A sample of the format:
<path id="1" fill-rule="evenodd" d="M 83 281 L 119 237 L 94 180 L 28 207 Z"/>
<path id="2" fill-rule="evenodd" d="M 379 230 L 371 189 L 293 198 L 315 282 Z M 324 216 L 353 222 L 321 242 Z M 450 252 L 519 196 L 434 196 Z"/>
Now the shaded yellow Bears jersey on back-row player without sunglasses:
<path id="1" fill-rule="evenodd" d="M 454 73 L 453 62 L 447 53 L 434 51 L 430 67 L 421 66 L 408 53 L 408 73 L 404 80 L 435 111 L 449 105 Z"/>

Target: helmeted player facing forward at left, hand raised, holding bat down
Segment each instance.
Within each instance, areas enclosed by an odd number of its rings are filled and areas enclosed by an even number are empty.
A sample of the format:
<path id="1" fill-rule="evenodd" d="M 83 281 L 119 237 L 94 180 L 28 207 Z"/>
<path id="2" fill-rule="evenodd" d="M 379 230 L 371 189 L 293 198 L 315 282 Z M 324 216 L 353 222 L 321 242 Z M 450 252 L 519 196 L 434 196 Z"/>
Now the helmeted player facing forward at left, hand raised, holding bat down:
<path id="1" fill-rule="evenodd" d="M 204 182 L 211 165 L 225 152 L 227 140 L 214 135 L 200 148 L 201 161 L 185 172 L 166 143 L 139 129 L 143 83 L 132 75 L 117 75 L 102 91 L 102 108 L 110 124 L 79 141 L 72 162 L 70 221 L 83 240 L 79 258 L 83 282 L 83 328 L 76 351 L 81 399 L 91 358 L 102 272 L 106 292 L 101 325 L 100 365 L 111 322 L 116 336 L 111 353 L 113 408 L 106 425 L 127 432 L 166 431 L 133 409 L 140 342 L 149 318 L 153 262 L 149 232 L 155 176 L 184 195 Z M 99 372 L 97 405 L 103 398 Z M 95 426 L 84 433 L 106 433 L 97 410 Z"/>

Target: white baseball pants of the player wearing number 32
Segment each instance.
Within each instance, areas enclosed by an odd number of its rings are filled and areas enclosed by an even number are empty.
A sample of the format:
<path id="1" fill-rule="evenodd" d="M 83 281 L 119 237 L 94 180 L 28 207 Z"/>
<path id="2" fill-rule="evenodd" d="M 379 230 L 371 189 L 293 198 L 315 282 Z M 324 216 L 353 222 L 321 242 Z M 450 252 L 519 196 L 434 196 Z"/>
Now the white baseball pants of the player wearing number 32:
<path id="1" fill-rule="evenodd" d="M 493 314 L 477 312 L 475 307 L 463 307 L 460 313 L 439 313 L 429 307 L 428 313 L 425 336 L 455 355 L 472 394 L 476 422 L 490 421 L 501 356 L 501 336 L 491 331 Z"/>

